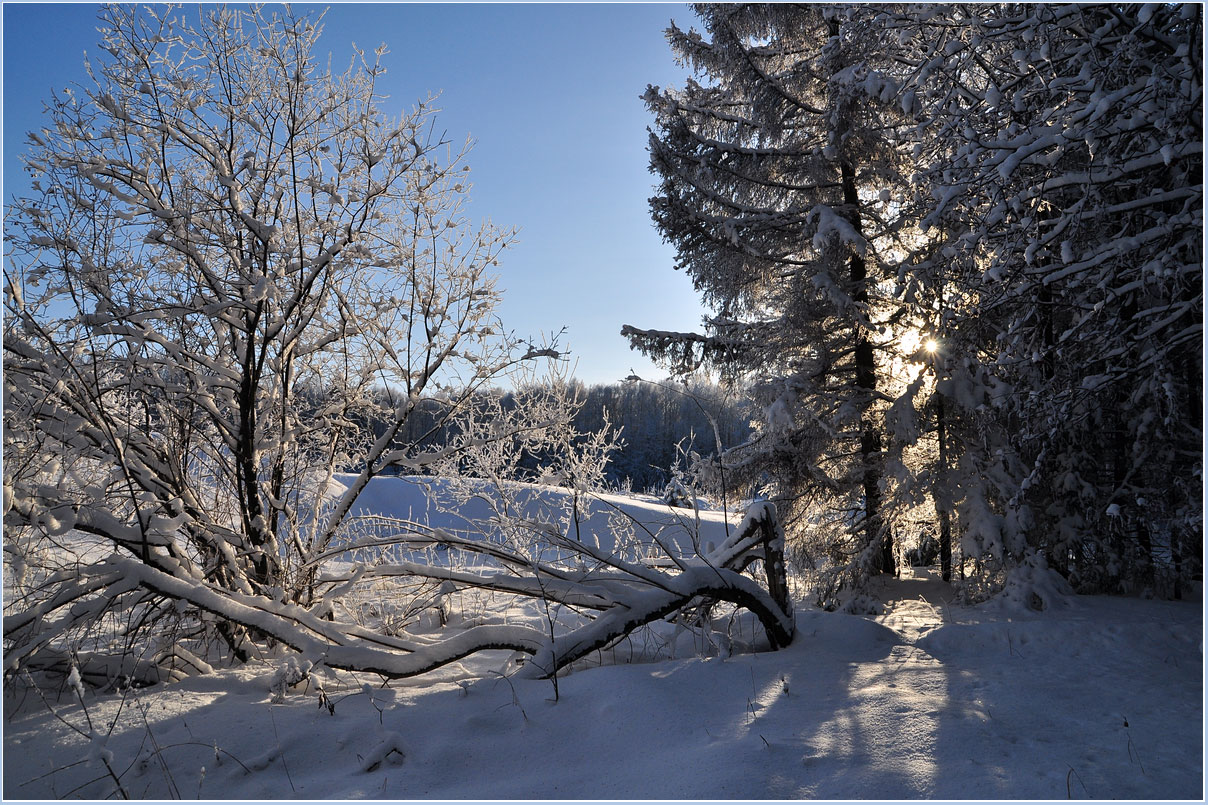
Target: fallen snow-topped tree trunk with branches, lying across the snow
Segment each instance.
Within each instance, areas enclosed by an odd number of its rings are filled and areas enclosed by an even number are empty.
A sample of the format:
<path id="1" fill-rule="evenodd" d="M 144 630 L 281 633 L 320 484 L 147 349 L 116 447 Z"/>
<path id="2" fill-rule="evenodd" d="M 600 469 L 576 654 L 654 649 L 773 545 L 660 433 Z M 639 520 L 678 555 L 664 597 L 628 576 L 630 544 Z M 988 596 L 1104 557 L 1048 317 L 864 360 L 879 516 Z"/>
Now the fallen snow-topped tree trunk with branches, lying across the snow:
<path id="1" fill-rule="evenodd" d="M 704 555 L 676 558 L 675 573 L 618 560 L 565 535 L 551 534 L 551 538 L 559 548 L 570 549 L 596 564 L 591 569 L 547 566 L 499 545 L 443 532 L 425 532 L 393 542 L 455 544 L 489 555 L 501 569 L 512 573 L 475 573 L 407 562 L 362 567 L 353 580 L 389 577 L 431 579 L 457 589 L 506 592 L 594 613 L 587 622 L 562 633 L 552 633 L 553 630 L 547 633 L 523 625 L 484 625 L 436 639 L 395 637 L 356 624 L 329 620 L 324 615 L 331 612 L 330 602 L 307 608 L 267 596 L 234 592 L 167 573 L 137 558 L 114 555 L 89 571 L 91 583 L 81 581 L 75 587 L 79 595 L 58 596 L 36 607 L 36 612 L 5 619 L 5 641 L 8 643 L 5 670 L 45 667 L 50 655 L 41 660 L 36 655 L 48 648 L 51 641 L 47 635 L 59 635 L 65 630 L 60 624 L 76 620 L 74 609 L 86 604 L 120 607 L 118 600 L 123 596 L 146 592 L 185 602 L 226 622 L 279 641 L 302 654 L 312 665 L 373 672 L 388 678 L 419 676 L 489 649 L 532 655 L 523 673 L 550 677 L 633 630 L 702 600 L 726 601 L 754 613 L 773 649 L 792 641 L 795 624 L 784 577 L 783 538 L 771 504 L 753 506 L 720 548 Z M 757 560 L 765 563 L 767 589 L 743 574 Z M 528 574 L 521 575 L 519 571 Z M 341 579 L 326 581 L 336 584 Z M 81 601 L 88 593 L 92 593 L 92 600 Z M 68 612 L 45 624 L 50 629 L 40 627 L 43 618 L 60 606 Z"/>

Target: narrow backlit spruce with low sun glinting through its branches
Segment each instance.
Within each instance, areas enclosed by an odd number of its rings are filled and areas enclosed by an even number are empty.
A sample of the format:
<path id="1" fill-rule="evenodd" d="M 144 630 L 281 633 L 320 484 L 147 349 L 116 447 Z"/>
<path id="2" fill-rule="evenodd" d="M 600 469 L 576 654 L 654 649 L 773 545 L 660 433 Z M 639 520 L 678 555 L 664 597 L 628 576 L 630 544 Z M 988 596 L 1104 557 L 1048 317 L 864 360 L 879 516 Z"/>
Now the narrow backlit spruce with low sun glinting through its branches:
<path id="1" fill-rule="evenodd" d="M 997 320 L 991 306 L 980 307 L 982 273 L 969 243 L 970 221 L 983 213 L 943 214 L 957 196 L 957 164 L 968 156 L 963 110 L 980 97 L 969 87 L 982 75 L 970 42 L 983 42 L 977 16 L 963 6 L 882 6 L 877 21 L 896 42 L 893 69 L 911 117 L 896 132 L 911 181 L 895 199 L 908 225 L 892 262 L 898 331 L 914 352 L 895 361 L 902 387 L 887 415 L 893 505 L 936 539 L 942 578 L 980 596 L 987 577 L 1001 583 L 1004 534 L 1020 532 L 1003 492 L 1018 470 L 1001 418 L 1009 388 L 993 372 Z M 999 550 L 982 550 L 986 544 Z M 966 558 L 976 579 L 965 578 Z"/>

